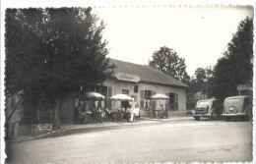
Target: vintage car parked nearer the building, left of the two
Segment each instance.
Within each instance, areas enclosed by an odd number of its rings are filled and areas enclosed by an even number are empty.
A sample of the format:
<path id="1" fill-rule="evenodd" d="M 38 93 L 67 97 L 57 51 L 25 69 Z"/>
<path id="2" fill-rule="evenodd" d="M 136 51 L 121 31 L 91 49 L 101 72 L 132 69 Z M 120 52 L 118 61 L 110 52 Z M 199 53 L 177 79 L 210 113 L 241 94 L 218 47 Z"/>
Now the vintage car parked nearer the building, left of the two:
<path id="1" fill-rule="evenodd" d="M 199 121 L 200 117 L 208 117 L 215 120 L 223 113 L 222 101 L 219 99 L 199 100 L 192 113 L 196 121 Z"/>

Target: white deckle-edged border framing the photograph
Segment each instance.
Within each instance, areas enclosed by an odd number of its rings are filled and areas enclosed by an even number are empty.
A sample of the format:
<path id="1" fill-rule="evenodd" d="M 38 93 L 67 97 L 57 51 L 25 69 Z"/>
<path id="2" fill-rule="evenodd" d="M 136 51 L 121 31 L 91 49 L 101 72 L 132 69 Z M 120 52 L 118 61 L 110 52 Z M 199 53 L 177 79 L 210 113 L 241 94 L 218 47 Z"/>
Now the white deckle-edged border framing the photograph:
<path id="1" fill-rule="evenodd" d="M 5 117 L 4 117 L 4 61 L 5 61 L 5 53 L 4 53 L 4 24 L 5 24 L 5 9 L 6 8 L 29 8 L 29 7 L 35 7 L 35 8 L 45 8 L 45 7 L 53 7 L 53 8 L 59 8 L 59 7 L 147 7 L 147 6 L 187 6 L 187 7 L 194 7 L 194 6 L 207 6 L 207 7 L 213 7 L 213 6 L 252 6 L 255 7 L 256 1 L 255 0 L 2 0 L 1 1 L 1 163 L 4 163 L 6 155 L 5 155 L 5 140 L 4 140 L 4 123 L 5 123 Z M 255 17 L 254 17 L 254 25 Z M 255 29 L 254 29 L 254 35 L 256 35 Z M 255 44 L 253 46 L 253 50 L 255 51 Z M 255 61 L 255 60 L 254 60 Z M 254 73 L 256 71 L 255 67 L 253 69 Z M 253 78 L 253 86 L 255 87 L 255 76 Z M 255 93 L 255 90 L 254 90 Z M 255 96 L 254 96 L 255 97 Z M 255 100 L 254 100 L 254 106 L 255 106 Z M 254 114 L 255 112 L 254 107 Z M 254 120 L 256 117 L 254 116 Z M 253 136 L 255 135 L 254 126 L 253 126 Z M 253 145 L 254 145 L 254 139 L 253 139 Z M 253 146 L 253 157 L 255 157 L 255 151 Z M 253 160 L 254 162 L 255 160 Z"/>

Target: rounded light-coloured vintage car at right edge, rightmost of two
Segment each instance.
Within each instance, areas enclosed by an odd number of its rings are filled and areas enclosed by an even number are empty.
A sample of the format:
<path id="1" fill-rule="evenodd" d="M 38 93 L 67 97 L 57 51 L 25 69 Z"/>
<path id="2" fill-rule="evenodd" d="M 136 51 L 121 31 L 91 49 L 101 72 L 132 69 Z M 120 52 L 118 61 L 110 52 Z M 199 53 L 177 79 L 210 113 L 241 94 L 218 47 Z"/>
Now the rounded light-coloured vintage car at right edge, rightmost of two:
<path id="1" fill-rule="evenodd" d="M 232 96 L 224 99 L 224 113 L 222 115 L 225 120 L 231 118 L 239 118 L 241 120 L 252 119 L 252 98 L 247 95 Z"/>

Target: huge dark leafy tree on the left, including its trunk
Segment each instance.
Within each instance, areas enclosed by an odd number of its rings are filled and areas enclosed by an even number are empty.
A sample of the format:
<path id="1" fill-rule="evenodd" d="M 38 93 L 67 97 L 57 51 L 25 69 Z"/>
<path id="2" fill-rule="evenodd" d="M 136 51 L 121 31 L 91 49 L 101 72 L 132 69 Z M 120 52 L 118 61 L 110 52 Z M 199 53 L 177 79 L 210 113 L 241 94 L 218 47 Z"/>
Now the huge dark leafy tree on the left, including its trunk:
<path id="1" fill-rule="evenodd" d="M 71 92 L 84 94 L 112 73 L 106 58 L 104 25 L 92 8 L 8 9 L 6 11 L 6 95 L 23 90 L 26 109 L 53 109 Z"/>

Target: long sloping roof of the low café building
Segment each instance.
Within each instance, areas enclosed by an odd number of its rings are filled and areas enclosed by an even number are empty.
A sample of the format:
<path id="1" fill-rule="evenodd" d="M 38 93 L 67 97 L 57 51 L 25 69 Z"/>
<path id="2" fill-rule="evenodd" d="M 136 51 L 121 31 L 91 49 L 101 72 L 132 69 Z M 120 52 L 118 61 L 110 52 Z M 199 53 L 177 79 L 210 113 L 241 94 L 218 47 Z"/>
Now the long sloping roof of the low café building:
<path id="1" fill-rule="evenodd" d="M 140 78 L 140 82 L 160 83 L 172 86 L 188 87 L 187 84 L 177 81 L 167 74 L 160 72 L 146 65 L 138 65 L 134 63 L 124 62 L 116 59 L 110 59 L 110 63 L 113 63 L 116 67 L 114 73 L 124 73 L 130 75 L 136 75 Z"/>

